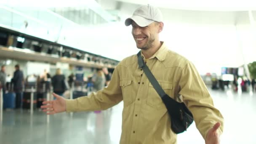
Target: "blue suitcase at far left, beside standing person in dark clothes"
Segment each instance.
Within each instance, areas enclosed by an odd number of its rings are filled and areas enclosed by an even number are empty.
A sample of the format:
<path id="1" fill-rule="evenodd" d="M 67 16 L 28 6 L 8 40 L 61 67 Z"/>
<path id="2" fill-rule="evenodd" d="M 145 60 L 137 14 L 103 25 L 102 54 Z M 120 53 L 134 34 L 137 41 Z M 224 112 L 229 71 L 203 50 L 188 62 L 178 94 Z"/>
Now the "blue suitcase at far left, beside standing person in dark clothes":
<path id="1" fill-rule="evenodd" d="M 9 93 L 5 93 L 3 94 L 3 108 L 11 108 L 14 109 L 15 108 L 15 98 L 16 98 L 16 94 L 9 92 Z"/>

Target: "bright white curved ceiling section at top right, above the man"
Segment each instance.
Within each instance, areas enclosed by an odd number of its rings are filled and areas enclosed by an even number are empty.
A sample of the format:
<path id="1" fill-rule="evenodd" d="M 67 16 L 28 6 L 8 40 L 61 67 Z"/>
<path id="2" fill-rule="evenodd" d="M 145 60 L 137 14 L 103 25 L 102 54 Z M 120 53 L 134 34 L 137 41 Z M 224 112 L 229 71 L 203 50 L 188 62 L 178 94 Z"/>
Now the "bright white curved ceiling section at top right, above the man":
<path id="1" fill-rule="evenodd" d="M 151 4 L 161 8 L 194 11 L 256 10 L 255 0 L 116 0 L 124 3 Z"/>

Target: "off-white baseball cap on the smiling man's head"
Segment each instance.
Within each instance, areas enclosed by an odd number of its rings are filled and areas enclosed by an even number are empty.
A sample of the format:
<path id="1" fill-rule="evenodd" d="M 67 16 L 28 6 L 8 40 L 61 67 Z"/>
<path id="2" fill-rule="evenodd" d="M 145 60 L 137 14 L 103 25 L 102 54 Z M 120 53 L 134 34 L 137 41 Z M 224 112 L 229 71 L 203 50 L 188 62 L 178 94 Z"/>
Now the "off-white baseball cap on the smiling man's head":
<path id="1" fill-rule="evenodd" d="M 153 21 L 162 22 L 163 16 L 158 8 L 152 5 L 143 5 L 133 12 L 132 17 L 125 20 L 125 25 L 131 25 L 132 21 L 136 22 L 140 27 L 146 27 Z"/>

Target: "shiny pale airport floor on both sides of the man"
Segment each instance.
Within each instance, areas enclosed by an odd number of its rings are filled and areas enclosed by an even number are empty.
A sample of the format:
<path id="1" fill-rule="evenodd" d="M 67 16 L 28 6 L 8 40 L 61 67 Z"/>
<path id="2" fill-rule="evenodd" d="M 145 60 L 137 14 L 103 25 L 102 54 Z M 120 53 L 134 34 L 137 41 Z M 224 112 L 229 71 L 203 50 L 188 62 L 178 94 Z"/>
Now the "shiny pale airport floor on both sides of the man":
<path id="1" fill-rule="evenodd" d="M 212 91 L 215 106 L 225 118 L 221 144 L 256 144 L 256 93 Z M 118 144 L 121 102 L 101 113 L 61 113 L 50 116 L 35 110 L 5 110 L 0 125 L 0 144 Z M 193 123 L 178 135 L 178 144 L 204 144 Z"/>

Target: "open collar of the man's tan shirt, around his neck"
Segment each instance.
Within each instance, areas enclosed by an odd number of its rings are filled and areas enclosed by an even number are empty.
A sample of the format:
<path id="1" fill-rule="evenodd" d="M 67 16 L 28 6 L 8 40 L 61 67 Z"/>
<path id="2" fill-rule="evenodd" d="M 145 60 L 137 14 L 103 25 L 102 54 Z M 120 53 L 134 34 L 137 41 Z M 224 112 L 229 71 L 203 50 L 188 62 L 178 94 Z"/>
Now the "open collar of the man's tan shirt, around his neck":
<path id="1" fill-rule="evenodd" d="M 165 60 L 165 56 L 166 56 L 166 52 L 168 51 L 168 48 L 166 47 L 165 43 L 163 41 L 161 42 L 161 47 L 157 50 L 157 52 L 155 54 L 153 54 L 153 56 L 151 56 L 149 59 L 153 59 L 153 58 L 157 58 L 159 61 L 163 61 Z M 145 56 L 143 55 L 143 53 L 141 52 L 142 58 L 145 61 Z"/>

